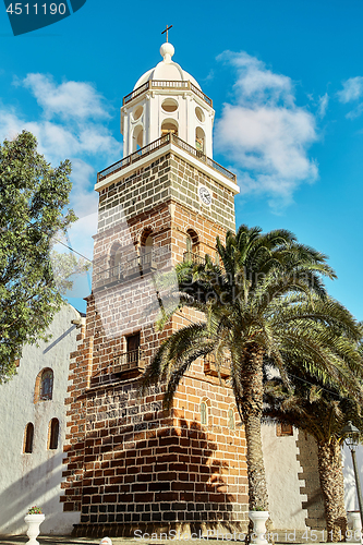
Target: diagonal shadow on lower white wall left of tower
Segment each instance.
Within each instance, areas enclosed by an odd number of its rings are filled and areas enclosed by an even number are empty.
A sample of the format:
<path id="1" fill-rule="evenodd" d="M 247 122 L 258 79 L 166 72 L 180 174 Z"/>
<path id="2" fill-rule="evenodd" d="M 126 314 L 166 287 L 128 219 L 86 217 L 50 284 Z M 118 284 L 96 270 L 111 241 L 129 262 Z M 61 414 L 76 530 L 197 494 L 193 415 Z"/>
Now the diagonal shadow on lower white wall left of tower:
<path id="1" fill-rule="evenodd" d="M 46 520 L 41 525 L 43 532 L 52 533 L 52 529 L 59 525 L 59 518 L 62 514 L 62 506 L 59 502 L 59 484 L 63 456 L 62 452 L 58 452 L 1 492 L 0 535 L 25 533 L 24 517 L 28 508 L 34 505 L 41 507 L 46 514 Z M 57 484 L 55 484 L 56 481 Z M 58 506 L 57 512 L 55 511 L 56 505 Z"/>

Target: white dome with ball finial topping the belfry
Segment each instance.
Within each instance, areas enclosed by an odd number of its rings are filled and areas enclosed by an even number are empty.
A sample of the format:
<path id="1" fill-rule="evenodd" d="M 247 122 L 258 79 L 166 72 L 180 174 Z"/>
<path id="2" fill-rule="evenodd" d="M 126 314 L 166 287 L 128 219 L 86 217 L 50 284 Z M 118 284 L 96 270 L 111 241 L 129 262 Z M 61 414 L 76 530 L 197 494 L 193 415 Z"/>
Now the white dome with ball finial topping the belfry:
<path id="1" fill-rule="evenodd" d="M 160 47 L 160 55 L 164 58 L 154 69 L 148 70 L 142 75 L 134 86 L 134 89 L 148 82 L 149 80 L 162 80 L 173 82 L 192 82 L 195 87 L 201 88 L 194 77 L 185 72 L 177 62 L 171 60 L 174 55 L 174 48 L 171 44 L 166 43 Z"/>

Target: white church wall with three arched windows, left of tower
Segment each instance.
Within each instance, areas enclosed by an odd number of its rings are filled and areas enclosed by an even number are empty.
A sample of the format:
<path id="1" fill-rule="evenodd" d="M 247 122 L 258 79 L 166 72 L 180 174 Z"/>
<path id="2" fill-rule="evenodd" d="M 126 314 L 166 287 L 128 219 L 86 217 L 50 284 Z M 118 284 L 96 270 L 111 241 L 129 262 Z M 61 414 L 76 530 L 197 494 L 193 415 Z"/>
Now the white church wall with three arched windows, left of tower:
<path id="1" fill-rule="evenodd" d="M 64 398 L 68 389 L 70 352 L 76 350 L 80 330 L 71 324 L 78 313 L 70 305 L 56 315 L 46 343 L 24 348 L 17 375 L 0 386 L 0 535 L 25 533 L 24 516 L 29 507 L 43 508 L 46 519 L 41 533 L 70 533 L 80 513 L 63 512 L 60 496 L 66 420 Z M 34 402 L 35 382 L 41 370 L 53 371 L 52 399 Z M 58 448 L 50 450 L 48 426 L 59 420 Z M 24 431 L 34 424 L 33 452 L 24 453 Z"/>

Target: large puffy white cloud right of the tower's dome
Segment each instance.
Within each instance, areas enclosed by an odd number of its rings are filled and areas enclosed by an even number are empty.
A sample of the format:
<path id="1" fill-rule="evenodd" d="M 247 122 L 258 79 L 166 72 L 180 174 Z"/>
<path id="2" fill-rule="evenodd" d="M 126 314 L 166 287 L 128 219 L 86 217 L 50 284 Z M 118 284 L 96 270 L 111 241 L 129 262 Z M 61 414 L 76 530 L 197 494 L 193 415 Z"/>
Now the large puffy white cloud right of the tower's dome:
<path id="1" fill-rule="evenodd" d="M 217 122 L 217 146 L 240 171 L 242 193 L 266 194 L 274 207 L 288 204 L 301 183 L 318 175 L 307 156 L 317 140 L 315 118 L 295 106 L 290 77 L 246 52 L 228 51 L 219 59 L 237 69 L 238 80 L 235 102 L 223 106 Z"/>

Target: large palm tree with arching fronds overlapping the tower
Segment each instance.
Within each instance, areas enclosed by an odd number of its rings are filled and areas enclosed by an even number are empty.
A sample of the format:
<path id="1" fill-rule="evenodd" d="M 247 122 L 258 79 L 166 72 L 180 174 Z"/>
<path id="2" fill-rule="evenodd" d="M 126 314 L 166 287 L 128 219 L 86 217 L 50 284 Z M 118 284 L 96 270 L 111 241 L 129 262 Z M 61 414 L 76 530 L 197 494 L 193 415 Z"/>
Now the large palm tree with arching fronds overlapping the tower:
<path id="1" fill-rule="evenodd" d="M 217 239 L 216 247 L 220 265 L 206 256 L 205 264 L 178 267 L 180 306 L 201 311 L 205 319 L 162 342 L 145 371 L 143 387 L 164 380 L 165 403 L 170 405 L 193 361 L 209 353 L 220 361 L 228 353 L 246 436 L 250 509 L 268 510 L 261 441 L 264 358 L 268 354 L 286 378 L 281 349 L 297 352 L 302 365 L 344 383 L 343 358 L 327 358 L 328 343 L 314 336 L 310 325 L 339 327 L 347 338 L 356 338 L 359 328 L 326 295 L 322 276 L 335 278 L 326 256 L 299 244 L 289 231 L 263 234 L 259 228 L 241 226 L 237 234 L 227 233 L 225 245 Z"/>

